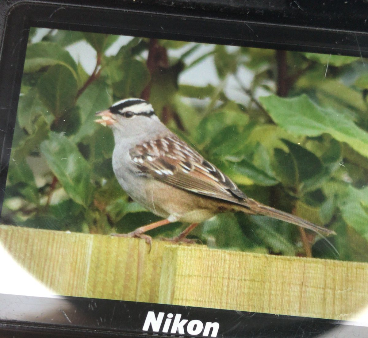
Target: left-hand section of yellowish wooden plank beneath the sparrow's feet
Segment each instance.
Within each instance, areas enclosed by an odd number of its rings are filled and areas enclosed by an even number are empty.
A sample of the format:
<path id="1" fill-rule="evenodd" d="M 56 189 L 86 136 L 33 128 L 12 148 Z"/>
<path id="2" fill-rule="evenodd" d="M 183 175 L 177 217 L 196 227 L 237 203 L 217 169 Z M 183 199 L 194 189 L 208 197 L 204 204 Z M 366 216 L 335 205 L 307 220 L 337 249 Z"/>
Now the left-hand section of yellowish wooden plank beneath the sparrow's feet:
<path id="1" fill-rule="evenodd" d="M 0 243 L 55 294 L 157 302 L 165 242 L 1 225 Z"/>

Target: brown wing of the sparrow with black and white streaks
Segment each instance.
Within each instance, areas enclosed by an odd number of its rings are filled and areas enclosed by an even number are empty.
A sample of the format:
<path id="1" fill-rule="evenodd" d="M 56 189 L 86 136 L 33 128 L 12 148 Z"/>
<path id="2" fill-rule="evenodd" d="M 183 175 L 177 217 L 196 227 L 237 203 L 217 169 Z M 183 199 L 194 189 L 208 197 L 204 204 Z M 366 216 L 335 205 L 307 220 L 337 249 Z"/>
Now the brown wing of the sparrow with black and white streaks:
<path id="1" fill-rule="evenodd" d="M 247 196 L 197 151 L 172 134 L 130 149 L 137 168 L 164 183 L 244 205 Z"/>

